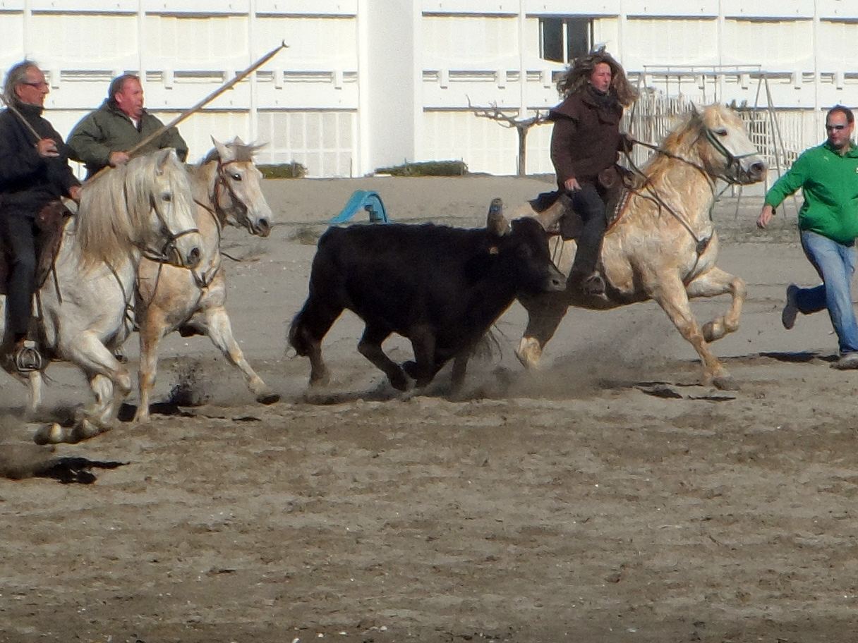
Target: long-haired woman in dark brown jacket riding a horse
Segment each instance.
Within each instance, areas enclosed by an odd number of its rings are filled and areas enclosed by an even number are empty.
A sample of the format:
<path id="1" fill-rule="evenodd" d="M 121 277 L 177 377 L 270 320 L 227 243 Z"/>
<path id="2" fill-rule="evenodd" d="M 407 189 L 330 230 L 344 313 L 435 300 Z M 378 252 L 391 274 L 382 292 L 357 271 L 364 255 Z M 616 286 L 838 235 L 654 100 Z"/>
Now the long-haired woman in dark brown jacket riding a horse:
<path id="1" fill-rule="evenodd" d="M 619 120 L 623 107 L 637 98 L 637 91 L 619 63 L 602 49 L 579 57 L 560 78 L 557 89 L 564 99 L 548 114 L 554 123 L 551 160 L 561 194 L 570 195 L 571 207 L 583 221 L 569 283 L 588 294 L 601 295 L 605 280 L 596 264 L 607 227 L 606 183 L 610 182 L 606 176 L 617 165 L 619 152 L 631 149 L 631 138 L 619 132 Z M 571 220 L 569 214 L 560 222 L 561 233 Z"/>

